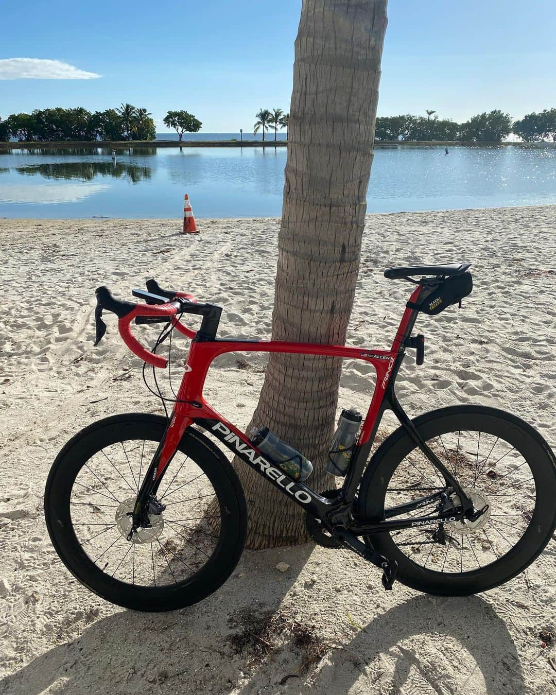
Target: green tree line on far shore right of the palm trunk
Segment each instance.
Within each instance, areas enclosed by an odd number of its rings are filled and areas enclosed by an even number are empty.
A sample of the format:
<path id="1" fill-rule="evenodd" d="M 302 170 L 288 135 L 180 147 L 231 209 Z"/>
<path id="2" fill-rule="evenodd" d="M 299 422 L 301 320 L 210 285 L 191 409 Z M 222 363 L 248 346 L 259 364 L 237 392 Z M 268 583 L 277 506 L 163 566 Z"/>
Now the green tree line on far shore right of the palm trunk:
<path id="1" fill-rule="evenodd" d="M 529 113 L 513 121 L 509 113 L 499 109 L 477 113 L 464 123 L 439 118 L 436 111 L 427 109 L 427 116 L 411 114 L 377 117 L 376 140 L 414 140 L 448 142 L 501 142 L 514 133 L 525 142 L 556 141 L 556 108 L 541 113 Z"/>

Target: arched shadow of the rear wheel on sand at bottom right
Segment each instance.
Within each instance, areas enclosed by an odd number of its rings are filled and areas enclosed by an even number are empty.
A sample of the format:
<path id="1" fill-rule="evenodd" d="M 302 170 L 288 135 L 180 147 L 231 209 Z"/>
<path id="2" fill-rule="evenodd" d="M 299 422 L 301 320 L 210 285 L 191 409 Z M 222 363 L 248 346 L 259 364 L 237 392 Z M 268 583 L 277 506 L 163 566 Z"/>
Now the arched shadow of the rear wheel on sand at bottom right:
<path id="1" fill-rule="evenodd" d="M 331 694 L 349 691 L 361 676 L 361 662 L 374 672 L 376 692 L 391 695 L 414 689 L 467 692 L 467 687 L 489 695 L 527 692 L 514 641 L 479 596 L 417 596 L 374 619 L 343 646 L 320 671 L 321 687 Z"/>

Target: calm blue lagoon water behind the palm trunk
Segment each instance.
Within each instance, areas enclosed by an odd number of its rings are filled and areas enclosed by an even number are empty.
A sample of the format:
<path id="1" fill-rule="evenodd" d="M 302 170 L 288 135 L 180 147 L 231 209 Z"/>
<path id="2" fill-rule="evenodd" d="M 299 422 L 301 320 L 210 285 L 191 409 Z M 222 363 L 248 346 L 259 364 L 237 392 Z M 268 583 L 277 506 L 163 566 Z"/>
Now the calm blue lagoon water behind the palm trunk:
<path id="1" fill-rule="evenodd" d="M 0 149 L 0 217 L 281 214 L 286 148 Z M 368 212 L 556 204 L 554 147 L 375 150 Z"/>

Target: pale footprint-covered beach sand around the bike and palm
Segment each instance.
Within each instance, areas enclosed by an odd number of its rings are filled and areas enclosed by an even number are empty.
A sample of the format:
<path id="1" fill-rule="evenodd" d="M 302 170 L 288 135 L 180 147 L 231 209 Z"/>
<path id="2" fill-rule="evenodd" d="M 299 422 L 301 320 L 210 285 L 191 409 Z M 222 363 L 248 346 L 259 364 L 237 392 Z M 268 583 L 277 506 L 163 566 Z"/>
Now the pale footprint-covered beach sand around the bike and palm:
<path id="1" fill-rule="evenodd" d="M 99 417 L 158 410 L 110 316 L 92 347 L 95 287 L 131 297 L 154 276 L 222 304 L 220 335 L 269 335 L 278 221 L 202 220 L 202 234 L 186 237 L 180 224 L 0 220 L 0 693 L 555 692 L 556 647 L 541 649 L 538 636 L 556 632 L 553 541 L 526 573 L 465 599 L 401 584 L 386 594 L 354 555 L 313 546 L 245 552 L 217 594 L 169 614 L 120 610 L 67 573 L 42 514 L 56 453 Z M 412 415 L 458 402 L 502 407 L 554 447 L 555 229 L 556 206 L 370 216 L 348 342 L 391 342 L 408 286 L 386 281 L 384 268 L 473 261 L 464 309 L 419 320 L 425 365 L 407 360 L 400 400 Z M 218 361 L 206 393 L 245 425 L 262 375 L 236 368 L 236 357 Z M 345 363 L 341 406 L 368 400 L 368 372 Z M 334 648 L 309 676 L 287 632 L 273 656 L 234 655 L 229 618 L 245 608 L 296 616 Z M 301 677 L 278 685 L 292 673 Z"/>

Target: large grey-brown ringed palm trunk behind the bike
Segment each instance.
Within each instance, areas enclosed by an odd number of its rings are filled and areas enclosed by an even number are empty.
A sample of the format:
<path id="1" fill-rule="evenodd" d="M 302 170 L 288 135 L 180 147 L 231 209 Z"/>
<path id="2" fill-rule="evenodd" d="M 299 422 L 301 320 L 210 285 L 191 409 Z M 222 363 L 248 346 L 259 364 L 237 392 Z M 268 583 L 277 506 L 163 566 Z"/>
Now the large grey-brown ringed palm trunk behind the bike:
<path id="1" fill-rule="evenodd" d="M 343 345 L 359 272 L 373 161 L 386 0 L 303 0 L 288 121 L 272 340 Z M 341 359 L 271 354 L 250 427 L 270 427 L 313 461 L 307 483 L 334 486 L 325 461 Z M 249 509 L 247 547 L 308 539 L 304 513 L 234 461 Z"/>

